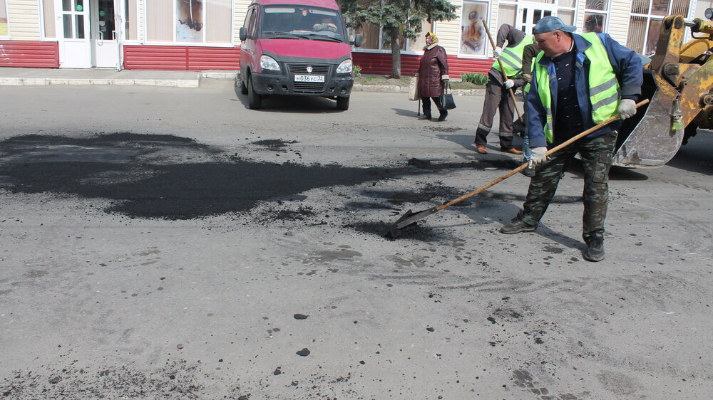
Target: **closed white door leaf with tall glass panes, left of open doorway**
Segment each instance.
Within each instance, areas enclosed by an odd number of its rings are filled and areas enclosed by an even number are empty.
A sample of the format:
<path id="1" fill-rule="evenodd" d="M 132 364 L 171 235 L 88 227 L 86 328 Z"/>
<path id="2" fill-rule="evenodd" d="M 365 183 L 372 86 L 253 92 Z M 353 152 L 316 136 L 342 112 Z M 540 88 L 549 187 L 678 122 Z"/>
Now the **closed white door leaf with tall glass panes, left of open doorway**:
<path id="1" fill-rule="evenodd" d="M 58 0 L 56 35 L 60 68 L 90 68 L 89 10 L 85 0 Z"/>

